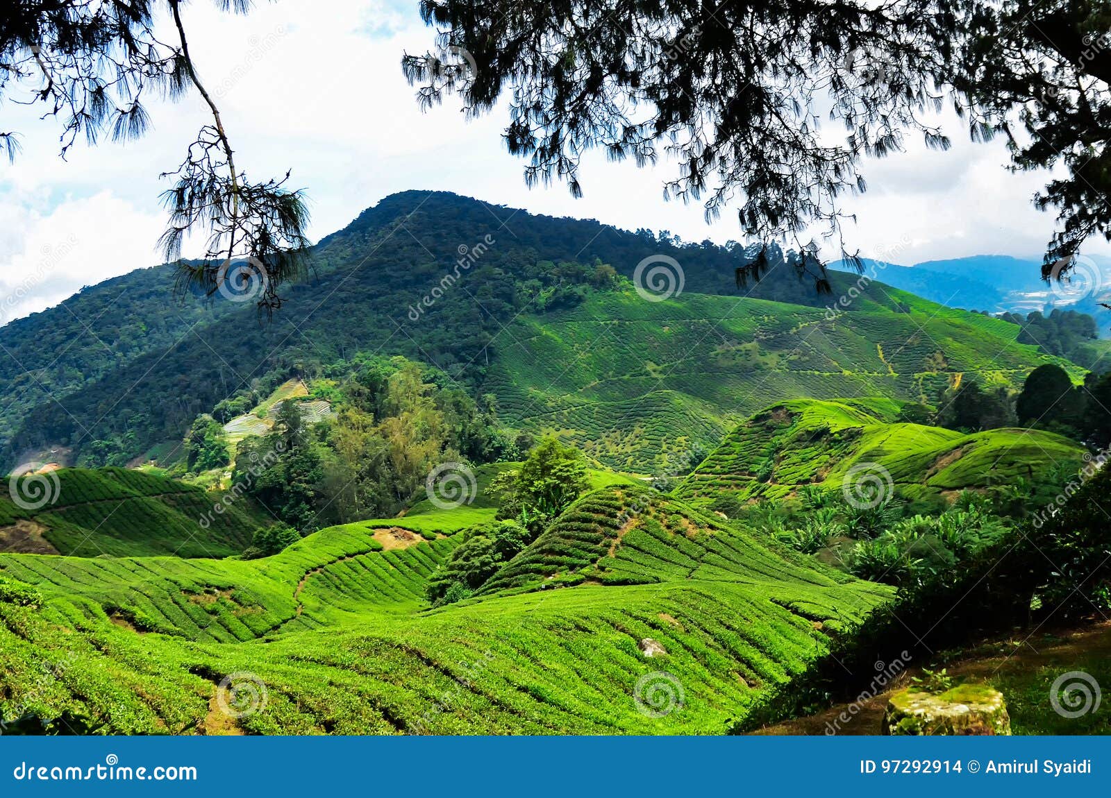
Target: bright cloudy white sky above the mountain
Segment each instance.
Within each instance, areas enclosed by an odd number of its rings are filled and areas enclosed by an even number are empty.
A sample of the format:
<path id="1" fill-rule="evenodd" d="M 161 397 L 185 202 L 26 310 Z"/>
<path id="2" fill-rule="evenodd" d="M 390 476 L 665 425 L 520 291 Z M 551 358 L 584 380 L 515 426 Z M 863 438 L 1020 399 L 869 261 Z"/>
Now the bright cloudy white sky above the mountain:
<path id="1" fill-rule="evenodd" d="M 197 0 L 183 13 L 238 165 L 257 180 L 292 169 L 291 183 L 308 192 L 314 241 L 409 189 L 668 230 L 687 241 L 741 238 L 735 214 L 707 224 L 700 205 L 664 201 L 673 162 L 638 169 L 595 153 L 583 161 L 584 196 L 575 200 L 562 183 L 524 185 L 524 162 L 501 139 L 503 108 L 468 121 L 449 97 L 422 112 L 400 69 L 402 52 L 433 46 L 416 0 L 277 0 L 246 17 Z M 0 163 L 0 323 L 158 263 L 166 221 L 159 194 L 169 186 L 159 173 L 178 165 L 209 122 L 196 93 L 153 102 L 143 139 L 78 144 L 63 161 L 60 125 L 12 99 L 0 105 L 0 128 L 20 131 L 23 151 L 14 164 Z M 949 152 L 909 141 L 905 153 L 864 163 L 869 191 L 844 204 L 857 215 L 847 229 L 850 249 L 908 265 L 972 254 L 1039 257 L 1053 216 L 1031 198 L 1049 175 L 1011 173 L 1002 142 L 973 144 L 954 117 L 942 123 L 953 140 Z M 1088 252 L 1111 254 L 1111 246 L 1092 242 Z M 199 251 L 187 246 L 186 254 Z"/>

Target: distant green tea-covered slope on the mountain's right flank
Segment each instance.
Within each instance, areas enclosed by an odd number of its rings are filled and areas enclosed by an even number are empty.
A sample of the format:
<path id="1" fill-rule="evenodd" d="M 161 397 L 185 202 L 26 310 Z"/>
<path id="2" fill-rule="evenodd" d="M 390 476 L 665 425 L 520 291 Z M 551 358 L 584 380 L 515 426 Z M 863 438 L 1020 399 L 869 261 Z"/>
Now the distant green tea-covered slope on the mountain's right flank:
<path id="1" fill-rule="evenodd" d="M 831 302 L 837 297 L 831 297 Z M 509 327 L 483 391 L 511 423 L 565 435 L 600 462 L 661 472 L 668 457 L 712 447 L 784 396 L 933 401 L 962 378 L 1021 384 L 1059 362 L 1019 344 L 1019 327 L 873 283 L 852 310 L 634 293 L 523 314 Z"/>

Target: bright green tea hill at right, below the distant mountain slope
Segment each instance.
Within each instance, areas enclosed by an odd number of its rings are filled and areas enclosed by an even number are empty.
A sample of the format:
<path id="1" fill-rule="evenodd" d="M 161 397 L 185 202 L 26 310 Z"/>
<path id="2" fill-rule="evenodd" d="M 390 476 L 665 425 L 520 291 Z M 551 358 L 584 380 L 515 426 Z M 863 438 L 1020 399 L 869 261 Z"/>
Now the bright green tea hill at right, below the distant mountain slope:
<path id="1" fill-rule="evenodd" d="M 1075 475 L 1085 459 L 1077 443 L 1038 430 L 1003 428 L 965 435 L 894 423 L 889 400 L 794 400 L 739 425 L 677 488 L 695 504 L 722 494 L 742 501 L 793 495 L 803 485 L 841 491 L 853 474 L 879 475 L 908 498 L 1014 484 L 1039 495 L 1057 492 L 1053 474 Z"/>

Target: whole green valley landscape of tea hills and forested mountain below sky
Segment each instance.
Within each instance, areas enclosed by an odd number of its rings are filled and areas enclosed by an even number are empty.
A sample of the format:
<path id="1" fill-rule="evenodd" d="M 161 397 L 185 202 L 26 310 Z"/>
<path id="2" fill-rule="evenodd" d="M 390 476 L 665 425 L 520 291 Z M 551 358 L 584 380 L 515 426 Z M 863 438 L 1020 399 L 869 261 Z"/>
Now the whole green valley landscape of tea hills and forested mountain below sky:
<path id="1" fill-rule="evenodd" d="M 172 321 L 151 270 L 0 327 L 0 720 L 745 733 L 892 651 L 1111 612 L 1108 344 L 1071 316 L 1043 345 L 815 293 L 789 253 L 740 286 L 740 245 L 506 210 L 387 198 L 269 323 Z M 660 252 L 685 287 L 645 296 Z M 38 351 L 67 316 L 113 343 Z"/>

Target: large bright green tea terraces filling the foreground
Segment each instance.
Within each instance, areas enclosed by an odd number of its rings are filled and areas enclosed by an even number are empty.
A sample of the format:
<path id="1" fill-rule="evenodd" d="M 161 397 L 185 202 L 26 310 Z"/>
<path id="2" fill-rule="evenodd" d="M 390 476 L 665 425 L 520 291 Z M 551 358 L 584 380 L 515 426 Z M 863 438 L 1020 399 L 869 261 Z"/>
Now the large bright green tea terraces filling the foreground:
<path id="1" fill-rule="evenodd" d="M 430 610 L 458 536 L 407 523 L 250 562 L 0 555 L 3 706 L 127 733 L 721 733 L 891 595 L 611 485 L 507 565 L 511 589 Z M 251 711 L 219 711 L 221 683 Z"/>

